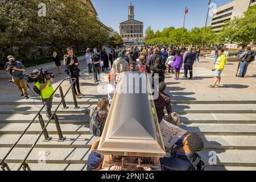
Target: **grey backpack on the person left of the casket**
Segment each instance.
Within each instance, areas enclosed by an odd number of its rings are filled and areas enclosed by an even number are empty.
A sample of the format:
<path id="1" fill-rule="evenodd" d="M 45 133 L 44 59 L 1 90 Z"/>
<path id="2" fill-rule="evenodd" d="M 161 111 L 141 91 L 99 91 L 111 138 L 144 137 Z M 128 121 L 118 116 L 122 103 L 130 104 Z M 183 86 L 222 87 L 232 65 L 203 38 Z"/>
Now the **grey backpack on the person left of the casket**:
<path id="1" fill-rule="evenodd" d="M 104 125 L 98 119 L 98 109 L 93 110 L 92 118 L 90 119 L 90 133 L 95 137 L 101 137 L 102 131 L 104 129 Z"/>

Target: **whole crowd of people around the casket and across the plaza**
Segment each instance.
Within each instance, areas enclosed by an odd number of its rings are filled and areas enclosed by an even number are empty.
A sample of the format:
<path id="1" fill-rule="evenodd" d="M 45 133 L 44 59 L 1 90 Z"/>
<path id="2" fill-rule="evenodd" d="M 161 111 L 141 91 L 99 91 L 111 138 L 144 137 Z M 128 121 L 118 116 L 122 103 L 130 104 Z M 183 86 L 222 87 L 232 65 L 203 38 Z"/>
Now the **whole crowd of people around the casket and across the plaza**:
<path id="1" fill-rule="evenodd" d="M 115 93 L 115 87 L 117 85 L 118 76 L 122 72 L 146 72 L 153 78 L 158 79 L 159 97 L 154 100 L 156 114 L 159 123 L 165 119 L 167 122 L 173 125 L 180 125 L 179 114 L 175 113 L 171 107 L 171 97 L 165 93 L 166 90 L 166 74 L 172 73 L 175 75 L 175 80 L 180 79 L 180 69 L 184 68 L 184 77 L 193 78 L 193 64 L 199 63 L 200 47 L 196 48 L 188 47 L 187 49 L 182 47 L 164 47 L 164 46 L 141 46 L 141 47 L 117 47 L 112 48 L 109 53 L 105 49 L 98 51 L 97 48 L 86 49 L 85 60 L 88 64 L 88 72 L 94 73 L 94 80 L 96 84 L 101 82 L 101 72 L 109 71 L 108 73 L 108 98 L 102 98 L 95 109 L 90 113 L 91 133 L 96 137 L 101 137 L 102 131 L 105 126 L 106 118 L 108 117 L 109 108 L 112 104 L 113 96 Z M 224 71 L 226 64 L 226 55 L 224 49 L 218 49 L 216 47 L 216 60 L 214 61 L 214 76 L 215 80 L 209 88 L 221 87 L 221 73 Z M 247 67 L 255 59 L 255 52 L 251 51 L 248 47 L 241 53 L 240 62 L 240 74 L 239 77 L 244 77 L 247 71 Z M 26 70 L 24 65 L 15 61 L 13 56 L 8 56 L 9 60 L 5 65 L 5 70 L 10 72 L 13 78 L 13 82 L 18 85 L 20 92 L 24 98 L 28 98 L 26 84 L 24 81 L 23 72 Z M 57 52 L 53 53 L 53 59 L 57 66 L 57 71 L 61 73 L 61 59 Z M 109 65 L 110 63 L 110 65 Z M 80 90 L 80 69 L 79 60 L 73 53 L 71 47 L 67 48 L 67 55 L 63 57 L 63 64 L 65 66 L 65 73 L 67 73 L 69 82 L 72 83 L 72 78 L 75 78 L 75 84 L 73 84 L 73 90 L 75 91 L 76 98 L 82 98 L 85 94 Z M 189 77 L 188 77 L 189 72 Z M 152 79 L 155 80 L 155 79 Z M 47 117 L 51 119 L 51 107 L 52 98 L 54 96 L 53 87 L 51 82 L 53 78 L 46 79 L 44 82 L 35 82 L 35 86 L 40 90 L 40 97 L 44 102 L 48 101 L 46 105 Z M 154 84 L 154 83 L 153 83 Z M 167 115 L 164 110 L 166 109 Z M 97 125 L 95 125 L 97 123 Z M 100 138 L 94 142 L 90 150 L 88 158 L 88 170 L 106 170 L 102 169 L 102 160 L 112 158 L 113 156 L 102 156 L 97 153 L 98 143 Z M 203 150 L 204 142 L 200 136 L 196 133 L 188 133 L 184 135 L 175 146 L 171 148 L 170 156 L 160 158 L 160 164 L 162 170 L 201 170 L 204 167 L 204 163 L 200 159 L 197 152 Z M 198 162 L 195 163 L 194 159 Z M 154 164 L 154 158 L 151 159 Z M 121 171 L 122 166 L 117 164 L 108 169 L 109 171 Z M 131 170 L 151 170 L 149 167 L 137 166 L 131 168 Z"/>

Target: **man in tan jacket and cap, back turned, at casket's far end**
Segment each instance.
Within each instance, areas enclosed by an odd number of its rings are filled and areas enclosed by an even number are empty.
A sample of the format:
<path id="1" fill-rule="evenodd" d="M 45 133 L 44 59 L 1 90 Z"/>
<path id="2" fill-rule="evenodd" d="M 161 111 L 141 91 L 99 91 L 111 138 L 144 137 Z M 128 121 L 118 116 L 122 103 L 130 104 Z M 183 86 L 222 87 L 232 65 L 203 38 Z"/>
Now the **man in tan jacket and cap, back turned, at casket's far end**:
<path id="1" fill-rule="evenodd" d="M 129 64 L 124 59 L 123 52 L 118 53 L 118 59 L 114 61 L 112 72 L 113 73 L 121 73 L 129 71 Z"/>

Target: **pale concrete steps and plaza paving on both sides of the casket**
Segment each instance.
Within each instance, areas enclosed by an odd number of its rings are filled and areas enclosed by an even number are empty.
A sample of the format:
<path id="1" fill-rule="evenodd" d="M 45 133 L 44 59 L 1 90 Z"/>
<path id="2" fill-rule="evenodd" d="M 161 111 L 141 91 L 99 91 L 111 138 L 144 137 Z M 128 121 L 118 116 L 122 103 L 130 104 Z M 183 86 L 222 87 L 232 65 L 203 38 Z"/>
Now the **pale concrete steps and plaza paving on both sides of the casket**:
<path id="1" fill-rule="evenodd" d="M 29 156 L 27 162 L 32 170 L 85 170 L 88 151 L 96 139 L 89 132 L 89 110 L 93 109 L 99 98 L 106 97 L 104 86 L 106 73 L 101 74 L 102 84 L 93 84 L 93 75 L 88 73 L 84 57 L 79 57 L 81 75 L 81 92 L 86 94 L 78 101 L 80 109 L 73 109 L 71 93 L 66 98 L 68 109 L 59 109 L 61 130 L 67 137 L 64 142 L 57 142 L 56 126 L 47 127 L 50 142 L 43 142 L 43 137 Z M 194 78 L 174 80 L 167 74 L 167 93 L 172 100 L 172 110 L 181 115 L 181 128 L 200 134 L 205 148 L 200 156 L 206 163 L 206 170 L 255 170 L 256 169 L 256 64 L 252 63 L 245 78 L 235 77 L 237 62 L 228 62 L 222 75 L 222 88 L 208 88 L 213 82 L 213 60 L 201 57 L 195 63 Z M 31 72 L 28 68 L 27 72 Z M 57 74 L 55 68 L 53 86 L 60 83 L 67 75 Z M 181 70 L 182 77 L 183 70 Z M 6 84 L 0 96 L 0 159 L 24 131 L 28 123 L 38 112 L 42 104 L 29 91 L 31 96 L 23 100 L 16 86 L 8 84 L 8 79 L 0 79 Z M 68 81 L 63 90 L 69 87 Z M 53 100 L 53 109 L 60 102 L 59 91 Z M 46 121 L 46 116 L 43 114 Z M 29 147 L 40 133 L 38 119 L 32 124 L 23 139 L 20 140 L 6 162 L 15 170 Z M 249 139 L 250 138 L 250 139 Z M 38 164 L 38 154 L 47 152 L 46 165 Z M 213 152 L 213 153 L 212 153 Z M 211 163 L 212 154 L 216 155 Z M 214 161 L 213 161 L 214 162 Z"/>

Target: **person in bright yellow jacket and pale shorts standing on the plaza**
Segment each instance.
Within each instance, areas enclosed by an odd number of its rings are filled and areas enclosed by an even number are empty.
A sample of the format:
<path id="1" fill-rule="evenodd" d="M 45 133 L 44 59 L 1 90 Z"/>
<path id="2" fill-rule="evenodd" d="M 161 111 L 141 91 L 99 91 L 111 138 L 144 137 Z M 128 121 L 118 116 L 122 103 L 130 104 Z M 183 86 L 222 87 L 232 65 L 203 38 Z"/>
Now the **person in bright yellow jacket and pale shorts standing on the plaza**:
<path id="1" fill-rule="evenodd" d="M 221 49 L 218 51 L 218 59 L 216 61 L 215 68 L 214 68 L 215 80 L 212 85 L 209 85 L 209 88 L 220 87 L 221 73 L 225 68 L 225 64 L 226 64 L 226 55 L 224 55 L 224 49 Z"/>

